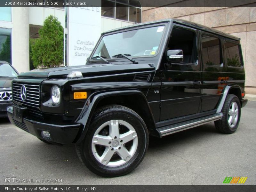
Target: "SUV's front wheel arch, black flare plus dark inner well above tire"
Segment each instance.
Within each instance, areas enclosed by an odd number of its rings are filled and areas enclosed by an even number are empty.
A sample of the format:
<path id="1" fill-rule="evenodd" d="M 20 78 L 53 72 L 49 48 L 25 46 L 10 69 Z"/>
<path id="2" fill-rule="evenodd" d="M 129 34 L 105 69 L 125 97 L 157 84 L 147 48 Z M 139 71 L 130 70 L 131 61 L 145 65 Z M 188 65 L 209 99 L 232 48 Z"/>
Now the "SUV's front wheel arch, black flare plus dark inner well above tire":
<path id="1" fill-rule="evenodd" d="M 87 99 L 82 112 L 76 119 L 76 122 L 82 125 L 82 129 L 78 133 L 74 143 L 80 143 L 84 139 L 95 110 L 102 106 L 111 104 L 123 105 L 131 108 L 144 120 L 148 130 L 156 129 L 156 123 L 152 111 L 148 105 L 145 95 L 141 91 L 121 90 L 96 92 Z"/>

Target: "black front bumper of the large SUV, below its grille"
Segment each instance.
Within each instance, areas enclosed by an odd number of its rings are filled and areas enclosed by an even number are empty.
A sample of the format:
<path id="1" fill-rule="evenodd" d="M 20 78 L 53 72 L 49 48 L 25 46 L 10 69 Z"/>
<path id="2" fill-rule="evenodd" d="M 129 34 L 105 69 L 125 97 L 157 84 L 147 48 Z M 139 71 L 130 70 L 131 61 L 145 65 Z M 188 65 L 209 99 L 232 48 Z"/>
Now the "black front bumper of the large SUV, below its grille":
<path id="1" fill-rule="evenodd" d="M 26 109 L 25 109 L 26 110 Z M 20 129 L 29 132 L 37 138 L 49 140 L 60 144 L 71 144 L 75 140 L 77 133 L 80 129 L 80 124 L 47 124 L 36 120 L 29 119 L 29 117 L 23 117 L 17 120 L 13 114 L 13 107 L 7 108 L 8 118 L 12 124 L 16 125 Z M 50 132 L 50 138 L 42 136 L 42 131 Z"/>

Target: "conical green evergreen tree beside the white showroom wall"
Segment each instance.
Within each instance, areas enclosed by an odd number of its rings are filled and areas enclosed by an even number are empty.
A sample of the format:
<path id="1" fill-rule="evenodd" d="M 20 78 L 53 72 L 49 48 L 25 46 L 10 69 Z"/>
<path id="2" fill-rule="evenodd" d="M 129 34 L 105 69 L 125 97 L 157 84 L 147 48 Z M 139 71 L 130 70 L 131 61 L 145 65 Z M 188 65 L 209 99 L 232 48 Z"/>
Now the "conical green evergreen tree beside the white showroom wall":
<path id="1" fill-rule="evenodd" d="M 64 35 L 60 21 L 52 15 L 44 20 L 39 38 L 32 44 L 32 61 L 36 68 L 58 67 L 63 63 Z"/>

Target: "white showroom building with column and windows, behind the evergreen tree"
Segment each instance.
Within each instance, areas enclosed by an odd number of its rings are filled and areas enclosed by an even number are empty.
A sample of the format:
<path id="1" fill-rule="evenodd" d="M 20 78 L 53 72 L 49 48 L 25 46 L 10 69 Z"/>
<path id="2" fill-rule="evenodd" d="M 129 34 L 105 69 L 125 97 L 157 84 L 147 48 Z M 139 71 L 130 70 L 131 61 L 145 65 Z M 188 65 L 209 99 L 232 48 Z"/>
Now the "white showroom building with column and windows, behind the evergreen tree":
<path id="1" fill-rule="evenodd" d="M 65 34 L 63 64 L 84 65 L 101 32 L 141 22 L 137 0 L 102 3 L 113 7 L 0 7 L 0 60 L 8 61 L 20 73 L 29 71 L 29 39 L 39 38 L 44 20 L 53 15 Z"/>

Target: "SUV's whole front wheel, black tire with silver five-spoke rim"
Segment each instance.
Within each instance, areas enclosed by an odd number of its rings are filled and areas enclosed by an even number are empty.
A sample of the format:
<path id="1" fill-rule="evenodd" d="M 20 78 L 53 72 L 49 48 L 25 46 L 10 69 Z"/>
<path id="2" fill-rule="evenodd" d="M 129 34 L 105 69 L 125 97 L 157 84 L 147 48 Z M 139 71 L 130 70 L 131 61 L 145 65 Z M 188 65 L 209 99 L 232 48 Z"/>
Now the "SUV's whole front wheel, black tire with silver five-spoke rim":
<path id="1" fill-rule="evenodd" d="M 96 110 L 84 140 L 76 145 L 79 159 L 93 173 L 104 177 L 131 172 L 147 149 L 146 124 L 135 111 L 121 105 Z"/>

